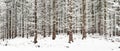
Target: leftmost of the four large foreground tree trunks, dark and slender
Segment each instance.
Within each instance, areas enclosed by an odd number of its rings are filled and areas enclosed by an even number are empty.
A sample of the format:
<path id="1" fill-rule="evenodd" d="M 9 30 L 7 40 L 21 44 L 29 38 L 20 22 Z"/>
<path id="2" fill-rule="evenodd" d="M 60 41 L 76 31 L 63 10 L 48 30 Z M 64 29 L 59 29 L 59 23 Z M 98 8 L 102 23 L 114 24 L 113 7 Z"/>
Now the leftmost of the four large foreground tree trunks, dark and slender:
<path id="1" fill-rule="evenodd" d="M 35 0 L 35 11 L 34 11 L 34 16 L 35 16 L 35 32 L 34 32 L 34 43 L 37 43 L 37 0 Z"/>

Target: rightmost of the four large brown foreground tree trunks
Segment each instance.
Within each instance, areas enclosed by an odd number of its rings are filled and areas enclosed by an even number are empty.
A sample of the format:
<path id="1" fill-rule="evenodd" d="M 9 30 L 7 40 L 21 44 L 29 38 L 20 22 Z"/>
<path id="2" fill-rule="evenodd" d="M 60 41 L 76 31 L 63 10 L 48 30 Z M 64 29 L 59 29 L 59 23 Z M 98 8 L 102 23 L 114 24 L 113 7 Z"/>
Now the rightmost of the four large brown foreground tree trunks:
<path id="1" fill-rule="evenodd" d="M 86 0 L 82 0 L 83 3 L 83 25 L 82 25 L 82 33 L 83 37 L 82 39 L 86 38 Z"/>

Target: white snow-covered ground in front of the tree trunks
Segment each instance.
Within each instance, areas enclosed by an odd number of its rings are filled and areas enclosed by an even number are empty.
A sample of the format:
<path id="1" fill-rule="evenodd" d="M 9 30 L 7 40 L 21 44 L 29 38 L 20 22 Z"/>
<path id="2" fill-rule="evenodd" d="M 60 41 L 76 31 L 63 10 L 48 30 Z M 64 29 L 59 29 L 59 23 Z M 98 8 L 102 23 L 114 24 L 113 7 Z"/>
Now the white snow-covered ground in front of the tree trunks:
<path id="1" fill-rule="evenodd" d="M 12 51 L 120 51 L 120 38 L 112 37 L 105 39 L 100 36 L 87 36 L 85 40 L 81 39 L 81 35 L 74 35 L 74 42 L 68 43 L 67 35 L 57 35 L 55 40 L 51 37 L 41 38 L 38 36 L 38 43 L 33 43 L 31 38 L 15 38 L 11 40 L 0 40 L 0 50 Z M 51 51 L 51 50 L 50 50 Z"/>

